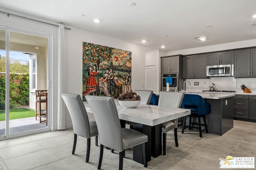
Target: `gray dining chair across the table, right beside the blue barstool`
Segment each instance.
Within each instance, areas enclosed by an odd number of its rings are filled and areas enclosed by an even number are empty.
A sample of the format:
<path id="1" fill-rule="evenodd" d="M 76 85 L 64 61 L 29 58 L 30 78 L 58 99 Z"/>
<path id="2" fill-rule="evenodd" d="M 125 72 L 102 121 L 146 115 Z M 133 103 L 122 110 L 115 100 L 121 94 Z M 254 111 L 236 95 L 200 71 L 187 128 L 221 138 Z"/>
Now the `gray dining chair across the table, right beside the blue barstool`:
<path id="1" fill-rule="evenodd" d="M 176 107 L 180 108 L 183 99 L 183 92 L 165 92 L 161 91 L 158 101 L 158 106 Z M 177 135 L 178 119 L 162 123 L 163 133 L 163 154 L 166 154 L 166 133 L 174 129 L 175 145 L 178 147 L 178 135 Z"/>

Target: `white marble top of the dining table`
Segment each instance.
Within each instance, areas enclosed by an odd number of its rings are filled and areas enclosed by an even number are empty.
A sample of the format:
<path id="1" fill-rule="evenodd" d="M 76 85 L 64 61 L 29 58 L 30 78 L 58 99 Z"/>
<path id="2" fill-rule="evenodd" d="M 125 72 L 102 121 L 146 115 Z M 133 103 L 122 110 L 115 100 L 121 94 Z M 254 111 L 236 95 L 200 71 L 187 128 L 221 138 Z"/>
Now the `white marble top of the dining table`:
<path id="1" fill-rule="evenodd" d="M 179 117 L 190 115 L 190 109 L 154 106 L 140 104 L 136 108 L 123 108 L 117 100 L 115 100 L 118 110 L 119 119 L 131 121 L 148 126 L 155 126 L 166 121 L 174 120 Z M 84 102 L 86 111 L 92 113 L 88 102 Z"/>

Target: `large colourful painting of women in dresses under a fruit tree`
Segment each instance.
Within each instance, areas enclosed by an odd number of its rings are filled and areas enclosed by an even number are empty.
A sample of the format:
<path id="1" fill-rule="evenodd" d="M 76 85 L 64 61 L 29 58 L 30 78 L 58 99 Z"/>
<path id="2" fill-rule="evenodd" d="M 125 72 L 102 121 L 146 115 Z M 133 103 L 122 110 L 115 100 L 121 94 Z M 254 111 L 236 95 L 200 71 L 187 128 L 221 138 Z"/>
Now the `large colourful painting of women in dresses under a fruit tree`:
<path id="1" fill-rule="evenodd" d="M 86 95 L 112 96 L 131 89 L 132 52 L 83 42 L 83 100 Z"/>

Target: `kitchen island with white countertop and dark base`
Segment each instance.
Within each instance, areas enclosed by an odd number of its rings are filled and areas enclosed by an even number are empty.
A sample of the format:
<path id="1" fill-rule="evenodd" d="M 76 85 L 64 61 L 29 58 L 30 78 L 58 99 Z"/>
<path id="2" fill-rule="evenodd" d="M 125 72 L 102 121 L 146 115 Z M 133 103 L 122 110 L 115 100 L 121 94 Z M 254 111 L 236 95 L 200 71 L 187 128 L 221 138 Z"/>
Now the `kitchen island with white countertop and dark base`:
<path id="1" fill-rule="evenodd" d="M 192 93 L 198 94 L 211 105 L 211 113 L 206 115 L 208 132 L 223 135 L 233 128 L 234 94 Z"/>

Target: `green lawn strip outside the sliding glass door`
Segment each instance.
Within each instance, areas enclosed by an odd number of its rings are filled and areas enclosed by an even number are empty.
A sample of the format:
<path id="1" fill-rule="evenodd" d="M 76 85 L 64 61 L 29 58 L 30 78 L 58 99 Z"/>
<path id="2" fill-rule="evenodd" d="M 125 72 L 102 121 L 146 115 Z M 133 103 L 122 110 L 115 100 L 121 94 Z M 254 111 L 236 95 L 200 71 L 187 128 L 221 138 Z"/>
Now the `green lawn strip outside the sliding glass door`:
<path id="1" fill-rule="evenodd" d="M 10 109 L 10 120 L 11 119 L 20 119 L 25 117 L 34 117 L 36 113 L 34 110 L 26 109 L 26 108 L 17 108 Z M 0 111 L 0 121 L 5 120 L 5 110 Z"/>

